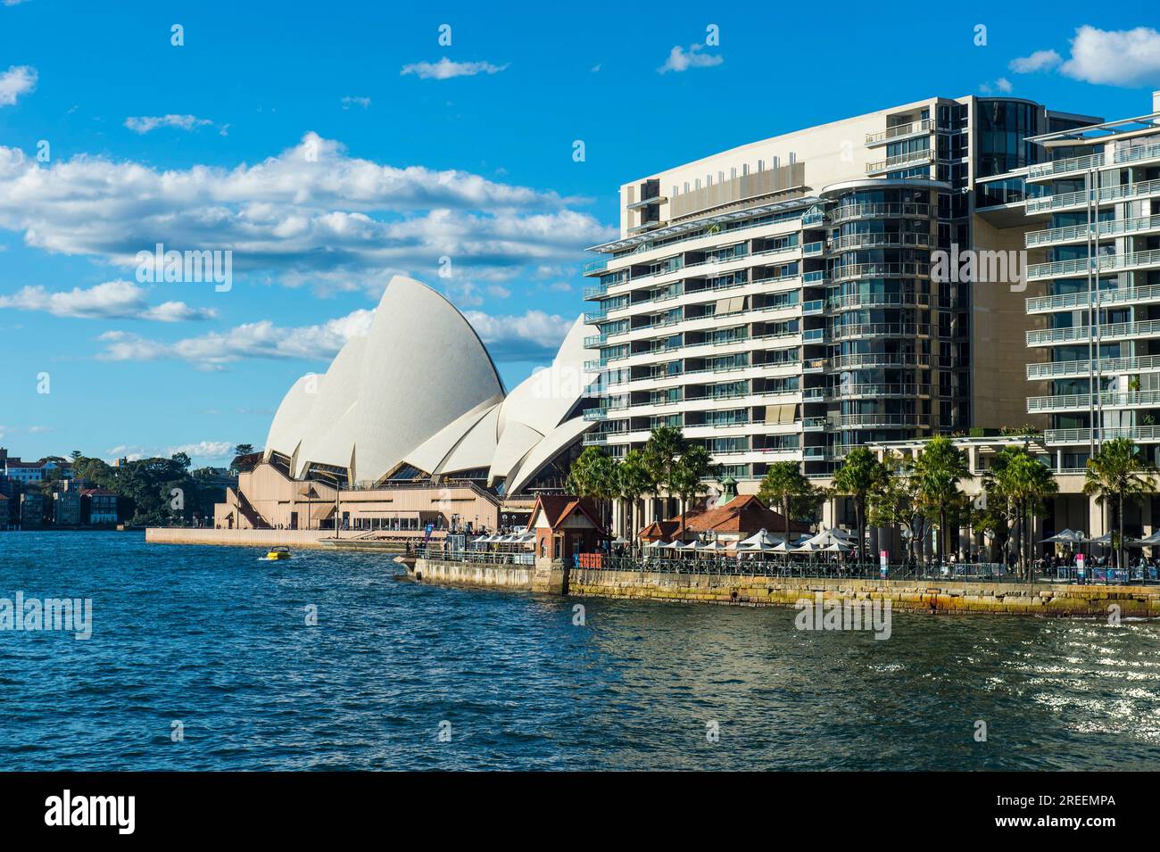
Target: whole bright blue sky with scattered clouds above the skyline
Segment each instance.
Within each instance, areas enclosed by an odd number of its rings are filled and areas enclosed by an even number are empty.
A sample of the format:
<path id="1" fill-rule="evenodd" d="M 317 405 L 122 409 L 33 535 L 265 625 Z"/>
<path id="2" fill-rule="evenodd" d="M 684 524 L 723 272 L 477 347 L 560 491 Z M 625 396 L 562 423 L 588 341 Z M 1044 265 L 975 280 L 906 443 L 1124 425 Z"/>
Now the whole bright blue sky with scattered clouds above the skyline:
<path id="1" fill-rule="evenodd" d="M 930 95 L 1148 111 L 1160 14 L 1044 8 L 0 0 L 0 445 L 220 464 L 393 272 L 512 387 L 626 180 Z M 139 283 L 158 241 L 233 250 L 232 289 Z"/>

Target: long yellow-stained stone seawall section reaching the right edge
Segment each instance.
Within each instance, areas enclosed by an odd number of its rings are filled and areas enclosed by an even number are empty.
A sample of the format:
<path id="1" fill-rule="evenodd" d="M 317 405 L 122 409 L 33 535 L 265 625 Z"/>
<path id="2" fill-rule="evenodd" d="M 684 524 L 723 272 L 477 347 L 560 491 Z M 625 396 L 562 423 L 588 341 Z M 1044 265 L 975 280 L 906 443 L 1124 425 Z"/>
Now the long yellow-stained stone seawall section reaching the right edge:
<path id="1" fill-rule="evenodd" d="M 891 609 L 911 612 L 1107 618 L 1115 604 L 1121 617 L 1160 617 L 1155 585 L 739 577 L 583 568 L 573 568 L 568 577 L 570 595 L 742 606 L 793 606 L 819 591 L 825 598 L 889 599 Z"/>

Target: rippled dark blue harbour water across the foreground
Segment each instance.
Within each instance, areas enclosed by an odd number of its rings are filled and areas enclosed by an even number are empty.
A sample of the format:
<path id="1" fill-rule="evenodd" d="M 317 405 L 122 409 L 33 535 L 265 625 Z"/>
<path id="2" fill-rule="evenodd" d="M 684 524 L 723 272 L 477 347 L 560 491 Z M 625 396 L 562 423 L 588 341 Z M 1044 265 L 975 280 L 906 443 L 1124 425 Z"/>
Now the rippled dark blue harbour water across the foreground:
<path id="1" fill-rule="evenodd" d="M 0 632 L 0 770 L 1160 769 L 1154 621 L 894 613 L 878 641 L 261 555 L 0 533 L 0 597 L 93 599 L 88 641 Z"/>

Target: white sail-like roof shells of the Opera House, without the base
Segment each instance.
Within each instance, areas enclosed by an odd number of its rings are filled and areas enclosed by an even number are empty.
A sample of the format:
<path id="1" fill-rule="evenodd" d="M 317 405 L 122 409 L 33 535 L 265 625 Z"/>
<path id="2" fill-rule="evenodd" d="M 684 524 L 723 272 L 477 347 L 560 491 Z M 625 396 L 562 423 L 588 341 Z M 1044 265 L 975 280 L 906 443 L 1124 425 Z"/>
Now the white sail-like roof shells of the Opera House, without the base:
<path id="1" fill-rule="evenodd" d="M 582 409 L 578 319 L 551 366 L 505 393 L 483 341 L 450 301 L 418 281 L 387 284 L 370 332 L 325 374 L 298 379 L 278 407 L 263 458 L 295 479 L 361 487 L 435 478 L 519 494 L 592 425 Z"/>

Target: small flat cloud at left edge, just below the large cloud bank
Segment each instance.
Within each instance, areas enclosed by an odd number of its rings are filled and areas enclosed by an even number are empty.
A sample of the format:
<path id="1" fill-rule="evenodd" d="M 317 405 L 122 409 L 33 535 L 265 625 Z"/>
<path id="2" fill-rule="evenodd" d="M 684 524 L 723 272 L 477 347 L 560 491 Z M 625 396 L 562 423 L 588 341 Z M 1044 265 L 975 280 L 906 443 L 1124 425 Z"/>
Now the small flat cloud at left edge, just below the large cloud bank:
<path id="1" fill-rule="evenodd" d="M 50 292 L 41 286 L 28 286 L 12 296 L 0 296 L 0 308 L 44 311 L 55 316 L 81 319 L 142 319 L 158 322 L 208 320 L 216 312 L 194 308 L 183 301 L 150 305 L 146 291 L 128 281 L 110 281 L 92 287 Z"/>

